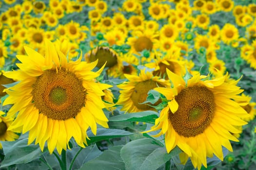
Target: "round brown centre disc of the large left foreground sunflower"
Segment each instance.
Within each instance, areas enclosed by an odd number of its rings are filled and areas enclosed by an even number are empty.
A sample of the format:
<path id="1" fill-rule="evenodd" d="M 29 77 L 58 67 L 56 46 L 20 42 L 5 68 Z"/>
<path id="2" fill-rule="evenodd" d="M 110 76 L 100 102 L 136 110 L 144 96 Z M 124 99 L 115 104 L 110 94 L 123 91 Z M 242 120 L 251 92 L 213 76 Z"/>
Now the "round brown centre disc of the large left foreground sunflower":
<path id="1" fill-rule="evenodd" d="M 33 85 L 33 102 L 47 118 L 74 118 L 85 105 L 86 89 L 74 73 L 61 68 L 46 70 Z"/>

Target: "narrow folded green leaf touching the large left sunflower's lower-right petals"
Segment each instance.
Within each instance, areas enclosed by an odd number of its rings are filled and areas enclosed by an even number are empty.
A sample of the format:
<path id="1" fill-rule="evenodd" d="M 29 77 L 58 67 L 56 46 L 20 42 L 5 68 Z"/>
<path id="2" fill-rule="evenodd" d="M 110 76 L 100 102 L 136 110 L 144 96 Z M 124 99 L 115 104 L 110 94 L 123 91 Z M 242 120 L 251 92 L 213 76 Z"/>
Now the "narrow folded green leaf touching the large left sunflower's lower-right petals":
<path id="1" fill-rule="evenodd" d="M 90 140 L 87 140 L 87 144 L 90 145 L 91 143 L 98 142 L 101 140 L 133 135 L 133 133 L 120 129 L 97 129 L 96 136 L 93 135 L 92 131 L 88 131 L 87 135 L 90 138 Z"/>

